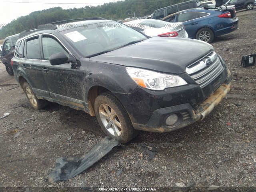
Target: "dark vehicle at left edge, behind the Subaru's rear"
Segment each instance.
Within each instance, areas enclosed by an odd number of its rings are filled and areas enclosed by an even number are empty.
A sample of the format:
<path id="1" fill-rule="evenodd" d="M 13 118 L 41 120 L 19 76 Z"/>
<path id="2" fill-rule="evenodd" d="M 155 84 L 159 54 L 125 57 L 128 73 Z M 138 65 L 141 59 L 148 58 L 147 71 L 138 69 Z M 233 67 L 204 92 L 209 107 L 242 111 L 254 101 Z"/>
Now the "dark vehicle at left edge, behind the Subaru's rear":
<path id="1" fill-rule="evenodd" d="M 0 51 L 1 61 L 5 65 L 9 75 L 13 75 L 11 59 L 13 58 L 15 44 L 19 38 L 19 34 L 8 36 L 4 39 L 2 50 Z"/>

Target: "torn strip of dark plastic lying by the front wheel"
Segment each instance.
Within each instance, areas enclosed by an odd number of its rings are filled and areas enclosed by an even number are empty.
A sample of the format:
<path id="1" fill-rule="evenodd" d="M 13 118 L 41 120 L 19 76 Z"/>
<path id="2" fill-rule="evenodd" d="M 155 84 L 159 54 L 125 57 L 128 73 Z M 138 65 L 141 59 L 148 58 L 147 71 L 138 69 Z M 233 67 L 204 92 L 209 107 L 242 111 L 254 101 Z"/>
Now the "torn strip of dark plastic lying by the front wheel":
<path id="1" fill-rule="evenodd" d="M 48 175 L 48 181 L 54 183 L 74 178 L 119 144 L 117 140 L 105 137 L 86 154 L 58 158 L 54 171 Z"/>

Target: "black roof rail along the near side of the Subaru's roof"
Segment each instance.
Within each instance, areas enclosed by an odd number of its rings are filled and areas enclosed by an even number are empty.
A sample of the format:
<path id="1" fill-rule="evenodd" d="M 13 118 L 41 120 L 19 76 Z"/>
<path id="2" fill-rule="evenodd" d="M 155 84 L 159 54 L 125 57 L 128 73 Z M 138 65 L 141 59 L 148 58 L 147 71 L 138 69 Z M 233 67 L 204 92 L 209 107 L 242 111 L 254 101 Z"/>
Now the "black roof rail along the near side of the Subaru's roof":
<path id="1" fill-rule="evenodd" d="M 39 25 L 37 28 L 34 28 L 34 29 L 22 31 L 19 35 L 19 39 L 24 36 L 27 36 L 33 32 L 36 32 L 36 31 L 57 29 L 56 25 L 58 25 L 58 24 L 64 24 L 64 23 L 75 22 L 75 21 L 88 21 L 88 20 L 106 20 L 106 19 L 101 18 L 101 17 L 88 17 L 88 18 L 78 18 L 78 19 L 56 21 L 56 22 L 52 22 L 49 24 Z"/>

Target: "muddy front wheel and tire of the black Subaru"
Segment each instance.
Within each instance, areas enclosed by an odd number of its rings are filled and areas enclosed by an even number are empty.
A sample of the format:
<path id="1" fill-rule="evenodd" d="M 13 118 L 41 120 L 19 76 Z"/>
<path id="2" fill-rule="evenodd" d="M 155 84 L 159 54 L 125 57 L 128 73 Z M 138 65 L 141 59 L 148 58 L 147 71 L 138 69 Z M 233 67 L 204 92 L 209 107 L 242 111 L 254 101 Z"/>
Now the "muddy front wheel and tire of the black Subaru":
<path id="1" fill-rule="evenodd" d="M 94 103 L 98 122 L 108 138 L 115 138 L 124 144 L 132 140 L 138 131 L 118 99 L 110 92 L 99 95 Z"/>

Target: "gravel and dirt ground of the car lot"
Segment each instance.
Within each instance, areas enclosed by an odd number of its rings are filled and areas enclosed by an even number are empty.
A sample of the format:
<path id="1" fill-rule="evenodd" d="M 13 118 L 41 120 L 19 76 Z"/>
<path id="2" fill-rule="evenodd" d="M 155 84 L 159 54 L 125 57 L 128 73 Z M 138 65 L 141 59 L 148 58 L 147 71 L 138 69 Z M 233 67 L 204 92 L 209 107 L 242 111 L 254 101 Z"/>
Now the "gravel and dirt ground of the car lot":
<path id="1" fill-rule="evenodd" d="M 192 183 L 191 191 L 207 191 L 212 185 L 224 191 L 256 190 L 256 66 L 240 67 L 242 55 L 256 53 L 256 8 L 237 15 L 239 29 L 212 42 L 231 70 L 232 87 L 211 114 L 174 132 L 140 132 L 64 182 L 51 184 L 48 174 L 58 157 L 84 154 L 104 137 L 96 118 L 54 103 L 44 110 L 32 109 L 1 64 L 0 116 L 10 116 L 0 119 L 0 191 L 85 191 L 88 188 L 78 187 L 103 186 L 173 191 L 178 182 Z M 158 150 L 151 160 L 140 148 L 145 144 Z"/>

